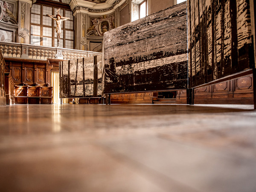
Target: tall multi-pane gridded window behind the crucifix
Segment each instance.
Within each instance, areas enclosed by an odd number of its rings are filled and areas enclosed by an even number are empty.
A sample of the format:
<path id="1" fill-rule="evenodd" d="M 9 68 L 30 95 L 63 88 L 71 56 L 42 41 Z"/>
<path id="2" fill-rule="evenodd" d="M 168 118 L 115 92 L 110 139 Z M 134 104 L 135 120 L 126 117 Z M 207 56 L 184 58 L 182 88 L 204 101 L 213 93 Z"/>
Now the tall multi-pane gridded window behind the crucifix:
<path id="1" fill-rule="evenodd" d="M 31 9 L 31 35 L 30 44 L 47 47 L 57 47 L 56 22 L 49 15 L 56 15 L 58 7 L 49 7 L 34 4 Z M 60 10 L 60 15 L 70 17 L 70 20 L 61 22 L 60 47 L 74 49 L 74 18 L 71 11 Z"/>

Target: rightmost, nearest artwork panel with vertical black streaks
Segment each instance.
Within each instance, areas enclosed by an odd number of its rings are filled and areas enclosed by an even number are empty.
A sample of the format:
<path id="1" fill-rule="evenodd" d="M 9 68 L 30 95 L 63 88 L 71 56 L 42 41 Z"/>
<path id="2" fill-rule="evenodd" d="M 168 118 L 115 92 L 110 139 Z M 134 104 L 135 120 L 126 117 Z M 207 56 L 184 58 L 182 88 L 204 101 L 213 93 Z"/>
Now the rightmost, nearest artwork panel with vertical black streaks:
<path id="1" fill-rule="evenodd" d="M 189 87 L 254 68 L 250 0 L 187 0 Z"/>

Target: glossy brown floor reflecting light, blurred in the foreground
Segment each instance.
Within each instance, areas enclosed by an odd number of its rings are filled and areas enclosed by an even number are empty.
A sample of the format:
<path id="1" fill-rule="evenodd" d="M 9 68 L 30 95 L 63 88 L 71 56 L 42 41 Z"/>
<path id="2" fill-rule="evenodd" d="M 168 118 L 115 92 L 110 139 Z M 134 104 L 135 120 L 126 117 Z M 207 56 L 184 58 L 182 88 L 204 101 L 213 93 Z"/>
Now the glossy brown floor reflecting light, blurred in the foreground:
<path id="1" fill-rule="evenodd" d="M 256 110 L 0 106 L 0 191 L 256 192 Z"/>

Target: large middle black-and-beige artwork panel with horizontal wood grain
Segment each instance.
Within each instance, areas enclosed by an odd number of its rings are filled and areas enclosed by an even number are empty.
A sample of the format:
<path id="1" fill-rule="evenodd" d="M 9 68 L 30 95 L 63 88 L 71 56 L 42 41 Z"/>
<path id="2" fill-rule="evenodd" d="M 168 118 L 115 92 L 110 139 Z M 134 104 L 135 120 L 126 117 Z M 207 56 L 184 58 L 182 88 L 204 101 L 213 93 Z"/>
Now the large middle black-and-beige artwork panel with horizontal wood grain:
<path id="1" fill-rule="evenodd" d="M 104 93 L 187 88 L 186 2 L 104 34 Z"/>

